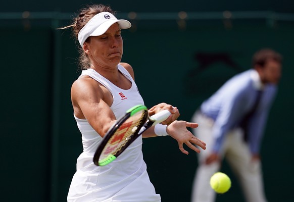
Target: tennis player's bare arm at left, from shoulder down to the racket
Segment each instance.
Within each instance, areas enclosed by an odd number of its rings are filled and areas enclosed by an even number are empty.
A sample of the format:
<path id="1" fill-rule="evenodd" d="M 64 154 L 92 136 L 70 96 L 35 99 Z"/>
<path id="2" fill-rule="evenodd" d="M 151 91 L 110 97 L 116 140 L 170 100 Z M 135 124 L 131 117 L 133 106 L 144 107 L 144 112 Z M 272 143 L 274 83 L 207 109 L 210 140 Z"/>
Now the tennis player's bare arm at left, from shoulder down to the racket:
<path id="1" fill-rule="evenodd" d="M 102 137 L 116 121 L 114 113 L 105 101 L 111 99 L 110 96 L 110 92 L 88 76 L 76 80 L 71 88 L 75 116 L 86 119 Z"/>

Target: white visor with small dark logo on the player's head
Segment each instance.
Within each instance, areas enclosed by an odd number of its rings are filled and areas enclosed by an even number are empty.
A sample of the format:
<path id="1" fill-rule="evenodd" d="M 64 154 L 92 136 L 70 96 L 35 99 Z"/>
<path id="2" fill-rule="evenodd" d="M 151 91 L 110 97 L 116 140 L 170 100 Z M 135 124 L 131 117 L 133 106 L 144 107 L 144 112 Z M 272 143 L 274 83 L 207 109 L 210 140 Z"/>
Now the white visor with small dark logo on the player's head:
<path id="1" fill-rule="evenodd" d="M 89 36 L 100 36 L 104 34 L 108 28 L 114 23 L 118 23 L 120 29 L 128 29 L 132 25 L 127 20 L 118 20 L 109 12 L 102 12 L 92 17 L 87 24 L 80 30 L 78 40 L 83 46 L 85 40 Z"/>

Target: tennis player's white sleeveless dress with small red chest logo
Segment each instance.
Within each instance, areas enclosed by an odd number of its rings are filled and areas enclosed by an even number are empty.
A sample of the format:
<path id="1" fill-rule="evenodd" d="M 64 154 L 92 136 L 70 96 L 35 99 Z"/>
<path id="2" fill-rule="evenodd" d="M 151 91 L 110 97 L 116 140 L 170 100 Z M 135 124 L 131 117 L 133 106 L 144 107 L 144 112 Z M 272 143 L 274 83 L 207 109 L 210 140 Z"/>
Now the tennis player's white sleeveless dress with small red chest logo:
<path id="1" fill-rule="evenodd" d="M 118 70 L 132 83 L 124 90 L 93 69 L 82 71 L 103 84 L 113 96 L 111 110 L 116 118 L 135 105 L 144 105 L 138 88 L 128 71 L 118 65 Z M 77 159 L 77 171 L 72 179 L 68 201 L 160 201 L 146 172 L 142 155 L 142 137 L 138 137 L 123 153 L 107 166 L 93 164 L 94 152 L 102 137 L 90 126 L 87 120 L 78 119 L 78 128 L 82 134 L 83 153 Z"/>

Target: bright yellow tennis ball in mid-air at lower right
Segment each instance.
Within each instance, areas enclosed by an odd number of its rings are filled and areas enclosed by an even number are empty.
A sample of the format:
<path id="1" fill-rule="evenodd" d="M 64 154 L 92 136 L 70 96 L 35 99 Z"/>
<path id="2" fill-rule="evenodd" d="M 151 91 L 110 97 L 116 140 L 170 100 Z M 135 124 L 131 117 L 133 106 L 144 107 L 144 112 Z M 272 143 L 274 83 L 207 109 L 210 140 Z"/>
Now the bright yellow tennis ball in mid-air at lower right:
<path id="1" fill-rule="evenodd" d="M 210 178 L 210 186 L 217 193 L 225 193 L 231 187 L 231 180 L 226 174 L 217 172 Z"/>

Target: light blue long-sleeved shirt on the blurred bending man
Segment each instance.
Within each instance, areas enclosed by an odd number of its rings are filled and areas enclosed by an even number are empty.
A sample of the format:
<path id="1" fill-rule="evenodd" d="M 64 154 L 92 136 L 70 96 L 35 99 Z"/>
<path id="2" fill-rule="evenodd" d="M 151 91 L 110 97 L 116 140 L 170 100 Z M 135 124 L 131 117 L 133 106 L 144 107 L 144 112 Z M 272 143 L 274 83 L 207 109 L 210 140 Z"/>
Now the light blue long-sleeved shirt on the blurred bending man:
<path id="1" fill-rule="evenodd" d="M 251 69 L 229 79 L 201 105 L 201 112 L 215 120 L 214 152 L 220 151 L 224 136 L 229 130 L 238 127 L 253 107 L 258 89 L 263 89 L 262 97 L 248 128 L 250 150 L 253 154 L 258 154 L 267 116 L 277 91 L 276 85 L 263 85 L 256 70 Z"/>

